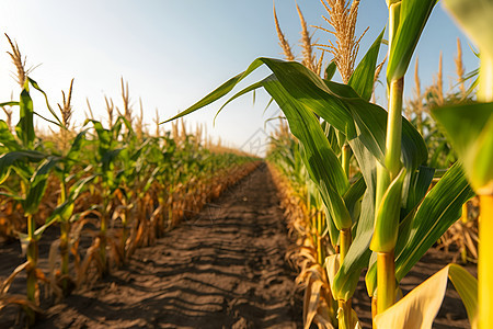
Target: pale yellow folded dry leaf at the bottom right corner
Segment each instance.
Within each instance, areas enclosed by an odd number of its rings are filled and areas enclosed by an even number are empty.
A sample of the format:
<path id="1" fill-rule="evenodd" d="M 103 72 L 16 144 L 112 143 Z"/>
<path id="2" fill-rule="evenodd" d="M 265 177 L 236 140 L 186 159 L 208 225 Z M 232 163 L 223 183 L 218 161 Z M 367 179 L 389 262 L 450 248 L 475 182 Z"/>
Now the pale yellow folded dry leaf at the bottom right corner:
<path id="1" fill-rule="evenodd" d="M 448 279 L 462 298 L 471 327 L 477 328 L 478 281 L 456 264 L 448 264 L 393 306 L 378 314 L 374 319 L 376 327 L 432 328 L 445 297 Z"/>

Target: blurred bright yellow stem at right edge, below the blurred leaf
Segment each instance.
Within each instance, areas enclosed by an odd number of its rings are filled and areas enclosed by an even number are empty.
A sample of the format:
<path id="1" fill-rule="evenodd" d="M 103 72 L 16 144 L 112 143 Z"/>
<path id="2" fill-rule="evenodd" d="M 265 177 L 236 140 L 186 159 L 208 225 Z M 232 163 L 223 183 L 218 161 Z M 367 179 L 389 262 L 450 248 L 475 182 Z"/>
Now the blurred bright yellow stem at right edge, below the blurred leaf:
<path id="1" fill-rule="evenodd" d="M 493 328 L 493 195 L 480 195 L 479 328 Z"/>

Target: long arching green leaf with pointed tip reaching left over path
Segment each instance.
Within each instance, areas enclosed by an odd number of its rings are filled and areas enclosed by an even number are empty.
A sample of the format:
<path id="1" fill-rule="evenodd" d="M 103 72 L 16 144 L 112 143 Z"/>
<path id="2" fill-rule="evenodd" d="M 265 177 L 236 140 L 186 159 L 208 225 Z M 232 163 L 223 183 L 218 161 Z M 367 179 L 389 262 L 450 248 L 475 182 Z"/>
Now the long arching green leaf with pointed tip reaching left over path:
<path id="1" fill-rule="evenodd" d="M 167 122 L 182 117 L 220 99 L 262 64 L 268 66 L 285 91 L 300 106 L 317 113 L 334 128 L 346 134 L 347 139 L 362 135 L 365 146 L 383 163 L 387 111 L 360 99 L 351 87 L 324 81 L 302 65 L 294 61 L 259 58 L 250 65 L 246 71 L 228 80 L 196 104 Z M 265 79 L 264 83 L 268 80 L 273 80 L 273 78 Z M 256 87 L 259 86 L 255 84 Z M 355 121 L 358 125 L 357 129 Z M 402 158 L 408 169 L 417 168 L 427 158 L 423 138 L 405 118 L 403 118 L 402 129 Z"/>

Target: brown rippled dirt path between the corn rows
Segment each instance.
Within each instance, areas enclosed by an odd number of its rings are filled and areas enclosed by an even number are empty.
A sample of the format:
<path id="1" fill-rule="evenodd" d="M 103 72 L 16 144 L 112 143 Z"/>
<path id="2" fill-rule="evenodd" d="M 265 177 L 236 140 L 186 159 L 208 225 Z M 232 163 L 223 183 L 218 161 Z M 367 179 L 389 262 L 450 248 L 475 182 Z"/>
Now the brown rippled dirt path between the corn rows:
<path id="1" fill-rule="evenodd" d="M 261 164 L 129 263 L 48 309 L 36 328 L 302 328 L 294 245 Z"/>

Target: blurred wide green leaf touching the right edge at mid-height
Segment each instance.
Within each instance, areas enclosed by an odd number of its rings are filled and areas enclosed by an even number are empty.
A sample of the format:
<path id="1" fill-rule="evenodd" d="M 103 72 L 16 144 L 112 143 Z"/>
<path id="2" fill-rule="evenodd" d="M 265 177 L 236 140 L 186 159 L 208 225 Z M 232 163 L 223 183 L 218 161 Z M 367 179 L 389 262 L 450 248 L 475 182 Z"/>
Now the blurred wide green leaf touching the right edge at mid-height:
<path id="1" fill-rule="evenodd" d="M 432 114 L 457 150 L 477 193 L 493 194 L 493 103 L 438 107 Z"/>

